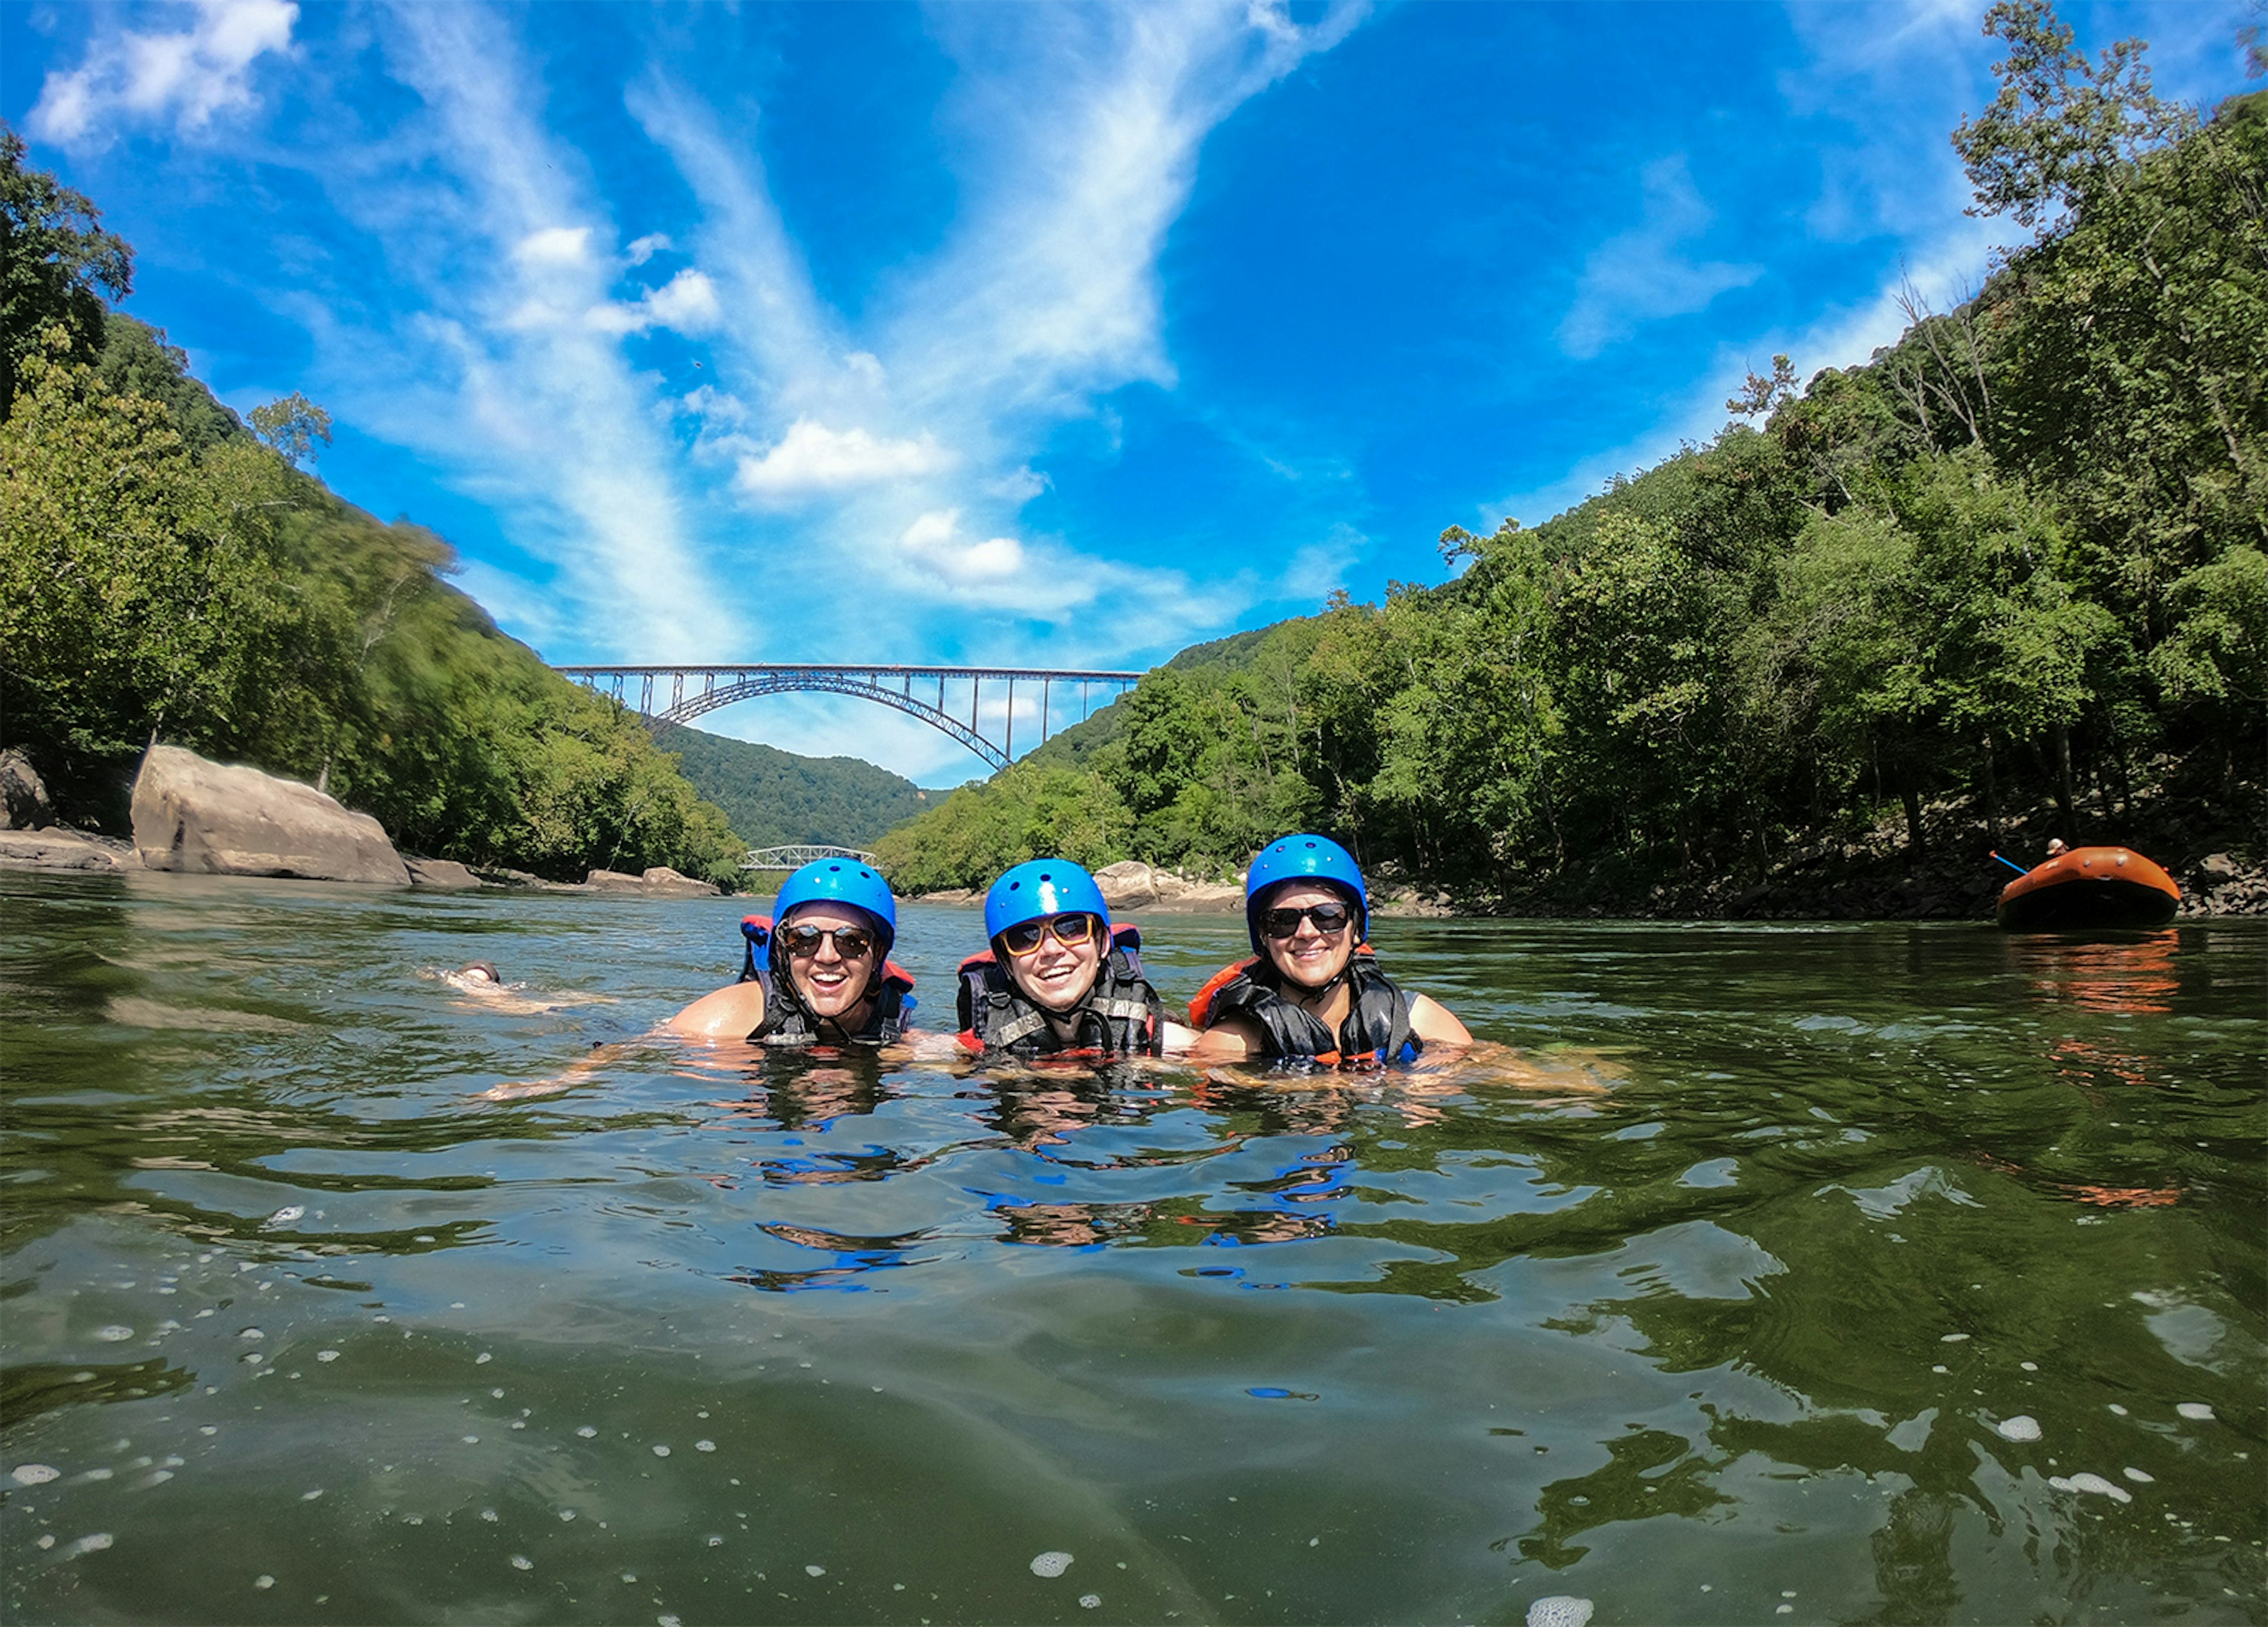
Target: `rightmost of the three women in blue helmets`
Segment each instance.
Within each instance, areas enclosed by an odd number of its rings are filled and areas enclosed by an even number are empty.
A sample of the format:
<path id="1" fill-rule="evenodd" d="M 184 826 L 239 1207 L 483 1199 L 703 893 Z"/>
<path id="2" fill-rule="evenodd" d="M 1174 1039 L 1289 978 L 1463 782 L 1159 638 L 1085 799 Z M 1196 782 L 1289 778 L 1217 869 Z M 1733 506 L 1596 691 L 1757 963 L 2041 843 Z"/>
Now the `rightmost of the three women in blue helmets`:
<path id="1" fill-rule="evenodd" d="M 1252 960 L 1188 1003 L 1200 1062 L 1311 1057 L 1327 1067 L 1406 1062 L 1424 1046 L 1467 1046 L 1465 1023 L 1406 994 L 1365 942 L 1370 892 L 1354 855 L 1322 835 L 1270 842 L 1245 874 Z"/>

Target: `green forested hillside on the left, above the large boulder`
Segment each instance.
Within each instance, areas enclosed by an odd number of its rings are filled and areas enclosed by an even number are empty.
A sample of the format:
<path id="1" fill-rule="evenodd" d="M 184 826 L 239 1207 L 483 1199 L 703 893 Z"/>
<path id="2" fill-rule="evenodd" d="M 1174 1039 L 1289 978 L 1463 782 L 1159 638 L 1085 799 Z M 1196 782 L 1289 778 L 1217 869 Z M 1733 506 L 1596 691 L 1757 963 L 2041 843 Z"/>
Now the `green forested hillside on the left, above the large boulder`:
<path id="1" fill-rule="evenodd" d="M 14 132 L 0 229 L 0 728 L 66 817 L 122 831 L 170 742 L 322 783 L 413 853 L 735 880 L 726 817 L 635 715 L 499 633 L 447 542 L 297 467 L 320 408 L 247 429 L 109 306 L 132 252 Z"/>

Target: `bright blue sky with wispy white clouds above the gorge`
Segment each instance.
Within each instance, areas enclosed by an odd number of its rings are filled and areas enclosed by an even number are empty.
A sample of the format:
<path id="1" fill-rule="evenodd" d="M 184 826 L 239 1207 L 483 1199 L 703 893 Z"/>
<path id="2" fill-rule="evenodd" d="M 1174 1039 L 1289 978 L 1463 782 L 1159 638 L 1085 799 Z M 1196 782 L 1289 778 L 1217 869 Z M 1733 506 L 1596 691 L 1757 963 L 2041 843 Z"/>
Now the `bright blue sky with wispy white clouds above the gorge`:
<path id="1" fill-rule="evenodd" d="M 1980 16 L 5 0 L 0 113 L 549 660 L 1143 667 L 1960 297 Z M 2243 0 L 2064 16 L 2245 88 Z M 703 726 L 975 769 L 857 701 Z"/>

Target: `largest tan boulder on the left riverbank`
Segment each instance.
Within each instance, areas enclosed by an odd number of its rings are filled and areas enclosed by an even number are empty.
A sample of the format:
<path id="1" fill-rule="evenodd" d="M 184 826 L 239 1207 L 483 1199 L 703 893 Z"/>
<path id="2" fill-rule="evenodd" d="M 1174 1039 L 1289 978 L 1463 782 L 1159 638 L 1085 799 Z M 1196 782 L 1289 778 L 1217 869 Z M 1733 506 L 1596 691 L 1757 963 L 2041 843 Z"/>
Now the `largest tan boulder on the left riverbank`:
<path id="1" fill-rule="evenodd" d="M 297 876 L 408 887 L 411 871 L 370 815 L 299 781 L 150 747 L 134 778 L 134 849 L 145 869 Z"/>

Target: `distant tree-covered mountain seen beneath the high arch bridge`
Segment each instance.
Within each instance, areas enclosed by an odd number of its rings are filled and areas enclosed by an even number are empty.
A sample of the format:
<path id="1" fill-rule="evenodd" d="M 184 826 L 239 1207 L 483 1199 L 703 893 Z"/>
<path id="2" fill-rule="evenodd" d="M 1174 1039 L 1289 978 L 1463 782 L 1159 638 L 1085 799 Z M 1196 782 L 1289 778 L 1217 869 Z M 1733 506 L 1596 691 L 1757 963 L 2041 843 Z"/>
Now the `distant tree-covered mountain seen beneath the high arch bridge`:
<path id="1" fill-rule="evenodd" d="M 794 751 L 665 726 L 662 751 L 705 801 L 726 810 L 748 846 L 828 842 L 873 846 L 885 831 L 934 806 L 912 781 L 857 758 L 798 758 Z"/>

